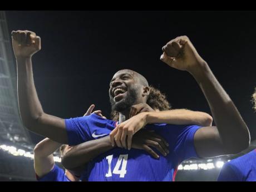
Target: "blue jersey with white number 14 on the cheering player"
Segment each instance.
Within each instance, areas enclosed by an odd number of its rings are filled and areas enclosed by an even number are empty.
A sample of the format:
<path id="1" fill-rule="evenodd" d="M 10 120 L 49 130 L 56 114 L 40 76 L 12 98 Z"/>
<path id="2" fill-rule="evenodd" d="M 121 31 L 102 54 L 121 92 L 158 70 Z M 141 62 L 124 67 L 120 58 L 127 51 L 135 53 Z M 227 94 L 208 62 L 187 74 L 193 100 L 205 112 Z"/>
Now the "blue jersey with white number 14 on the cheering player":
<path id="1" fill-rule="evenodd" d="M 65 123 L 68 144 L 77 145 L 109 135 L 117 122 L 91 114 L 67 119 Z M 90 161 L 82 180 L 173 181 L 178 165 L 183 160 L 198 157 L 194 147 L 194 134 L 199 126 L 149 124 L 145 128 L 155 130 L 156 134 L 168 141 L 170 153 L 167 156 L 155 150 L 160 158 L 154 159 L 144 150 L 115 147 Z"/>

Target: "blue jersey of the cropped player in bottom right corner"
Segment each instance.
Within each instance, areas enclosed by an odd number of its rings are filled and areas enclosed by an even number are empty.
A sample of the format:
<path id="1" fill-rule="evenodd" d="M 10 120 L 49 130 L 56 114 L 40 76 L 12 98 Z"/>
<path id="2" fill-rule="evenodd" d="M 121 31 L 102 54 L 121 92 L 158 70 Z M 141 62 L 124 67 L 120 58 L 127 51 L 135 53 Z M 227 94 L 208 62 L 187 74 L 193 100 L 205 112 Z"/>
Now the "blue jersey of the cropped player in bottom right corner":
<path id="1" fill-rule="evenodd" d="M 226 163 L 218 181 L 256 181 L 256 149 Z"/>

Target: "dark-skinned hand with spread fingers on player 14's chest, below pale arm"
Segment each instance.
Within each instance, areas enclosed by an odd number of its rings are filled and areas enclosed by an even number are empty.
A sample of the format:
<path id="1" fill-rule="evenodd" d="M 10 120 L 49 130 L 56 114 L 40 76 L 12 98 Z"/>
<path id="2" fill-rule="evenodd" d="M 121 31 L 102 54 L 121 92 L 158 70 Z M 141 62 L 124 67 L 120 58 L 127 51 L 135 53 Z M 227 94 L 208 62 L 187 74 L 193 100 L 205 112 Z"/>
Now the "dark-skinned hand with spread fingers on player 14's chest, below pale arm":
<path id="1" fill-rule="evenodd" d="M 161 154 L 166 156 L 169 154 L 168 146 L 168 142 L 166 142 L 163 137 L 155 134 L 154 131 L 149 131 L 146 129 L 142 129 L 134 135 L 131 145 L 131 147 L 134 149 L 145 150 L 156 159 L 159 158 L 159 155 L 157 155 L 156 152 L 151 149 L 151 147 L 154 147 L 156 150 L 161 152 Z"/>

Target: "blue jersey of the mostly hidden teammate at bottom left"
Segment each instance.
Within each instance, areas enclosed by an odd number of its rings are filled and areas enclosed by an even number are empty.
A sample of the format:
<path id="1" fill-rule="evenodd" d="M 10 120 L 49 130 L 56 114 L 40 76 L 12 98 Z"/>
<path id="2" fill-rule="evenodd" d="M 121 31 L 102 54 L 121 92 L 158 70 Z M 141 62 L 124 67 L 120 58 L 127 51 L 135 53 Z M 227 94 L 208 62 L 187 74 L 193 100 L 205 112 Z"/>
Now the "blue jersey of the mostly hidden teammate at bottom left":
<path id="1" fill-rule="evenodd" d="M 65 171 L 58 167 L 58 165 L 54 165 L 53 169 L 47 173 L 46 175 L 39 178 L 36 175 L 38 181 L 70 181 L 65 175 Z"/>

